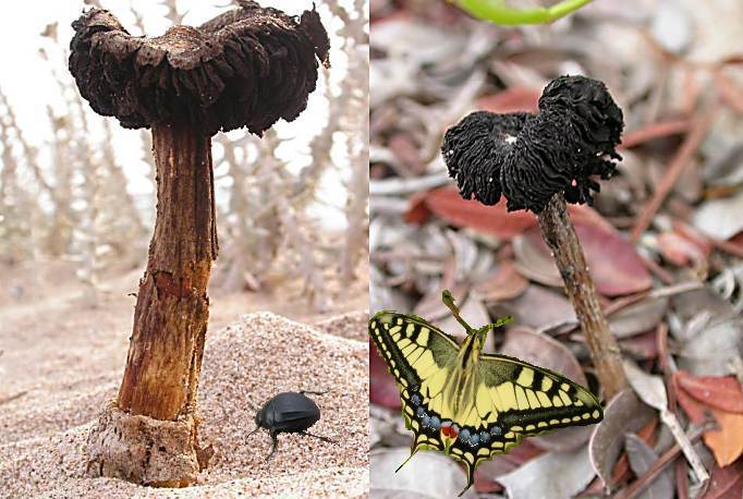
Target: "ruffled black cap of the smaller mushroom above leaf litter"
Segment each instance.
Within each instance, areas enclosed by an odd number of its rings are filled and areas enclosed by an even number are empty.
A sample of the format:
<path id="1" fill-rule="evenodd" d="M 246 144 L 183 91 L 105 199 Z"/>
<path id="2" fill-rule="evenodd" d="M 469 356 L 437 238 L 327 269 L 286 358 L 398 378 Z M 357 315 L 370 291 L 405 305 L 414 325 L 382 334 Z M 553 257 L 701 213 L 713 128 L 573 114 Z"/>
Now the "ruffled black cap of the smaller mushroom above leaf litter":
<path id="1" fill-rule="evenodd" d="M 621 159 L 616 147 L 624 127 L 622 110 L 604 83 L 560 76 L 545 88 L 539 113 L 475 111 L 449 129 L 441 153 L 465 199 L 508 210 L 540 212 L 563 192 L 569 203 L 593 200 Z"/>

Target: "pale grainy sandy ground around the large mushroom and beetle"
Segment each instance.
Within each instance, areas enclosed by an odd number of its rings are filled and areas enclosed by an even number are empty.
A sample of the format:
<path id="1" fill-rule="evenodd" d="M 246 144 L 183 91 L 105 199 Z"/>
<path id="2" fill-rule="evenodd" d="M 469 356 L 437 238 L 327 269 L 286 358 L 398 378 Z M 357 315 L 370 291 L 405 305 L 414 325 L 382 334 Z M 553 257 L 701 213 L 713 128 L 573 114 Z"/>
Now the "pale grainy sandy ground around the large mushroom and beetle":
<path id="1" fill-rule="evenodd" d="M 357 497 L 368 490 L 368 314 L 360 287 L 318 315 L 302 297 L 211 291 L 210 332 L 202 373 L 200 438 L 216 454 L 197 486 L 151 489 L 85 477 L 88 428 L 115 395 L 126 354 L 138 271 L 107 282 L 99 307 L 81 304 L 68 266 L 3 270 L 0 295 L 0 497 Z M 65 277 L 66 276 L 66 277 Z M 39 279 L 39 283 L 34 282 Z M 56 279 L 54 287 L 40 287 Z M 22 283 L 21 297 L 8 290 Z M 47 290 L 50 291 L 47 291 Z M 249 304 L 249 305 L 248 305 Z M 270 313 L 239 317 L 259 308 Z M 355 312 L 354 312 L 355 309 Z M 331 317 L 332 316 L 332 317 Z M 329 318 L 330 317 L 330 318 Z M 224 327 L 226 325 L 228 325 Z M 321 419 L 313 431 L 337 441 L 254 428 L 255 409 L 281 391 L 313 395 Z"/>

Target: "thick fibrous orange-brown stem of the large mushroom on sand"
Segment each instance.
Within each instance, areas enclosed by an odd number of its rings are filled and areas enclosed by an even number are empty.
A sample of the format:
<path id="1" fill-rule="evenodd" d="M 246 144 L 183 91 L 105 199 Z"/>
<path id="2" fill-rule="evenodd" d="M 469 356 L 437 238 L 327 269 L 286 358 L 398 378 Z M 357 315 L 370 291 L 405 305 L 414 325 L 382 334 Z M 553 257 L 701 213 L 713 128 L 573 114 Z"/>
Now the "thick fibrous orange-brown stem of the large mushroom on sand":
<path id="1" fill-rule="evenodd" d="M 193 413 L 217 257 L 211 139 L 187 120 L 153 125 L 157 219 L 139 281 L 119 409 L 174 421 Z"/>

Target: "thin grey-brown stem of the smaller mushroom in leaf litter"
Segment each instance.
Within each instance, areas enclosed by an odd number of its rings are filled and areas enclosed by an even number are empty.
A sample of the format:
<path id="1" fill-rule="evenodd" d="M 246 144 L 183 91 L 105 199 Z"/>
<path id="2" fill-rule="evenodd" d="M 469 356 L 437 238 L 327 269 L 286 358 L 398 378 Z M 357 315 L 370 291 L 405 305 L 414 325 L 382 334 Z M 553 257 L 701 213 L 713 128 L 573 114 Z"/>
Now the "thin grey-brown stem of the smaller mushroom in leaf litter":
<path id="1" fill-rule="evenodd" d="M 541 235 L 552 251 L 568 297 L 581 322 L 605 398 L 611 400 L 628 387 L 622 356 L 598 303 L 596 287 L 561 192 L 549 199 L 538 219 Z"/>

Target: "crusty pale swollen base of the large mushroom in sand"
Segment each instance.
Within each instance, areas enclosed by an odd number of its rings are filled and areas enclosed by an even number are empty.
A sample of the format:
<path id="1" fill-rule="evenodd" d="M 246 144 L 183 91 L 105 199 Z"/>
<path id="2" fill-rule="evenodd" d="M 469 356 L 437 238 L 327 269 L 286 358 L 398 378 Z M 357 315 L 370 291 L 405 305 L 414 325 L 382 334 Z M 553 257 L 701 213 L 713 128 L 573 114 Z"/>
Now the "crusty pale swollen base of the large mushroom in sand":
<path id="1" fill-rule="evenodd" d="M 155 487 L 185 487 L 210 458 L 196 441 L 196 421 L 160 421 L 107 407 L 90 429 L 87 474 Z"/>

